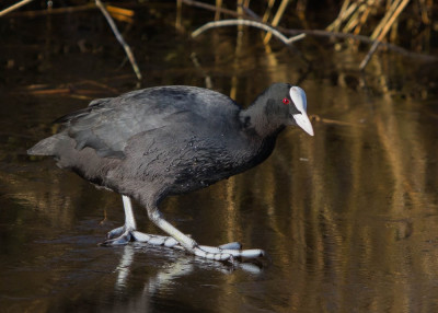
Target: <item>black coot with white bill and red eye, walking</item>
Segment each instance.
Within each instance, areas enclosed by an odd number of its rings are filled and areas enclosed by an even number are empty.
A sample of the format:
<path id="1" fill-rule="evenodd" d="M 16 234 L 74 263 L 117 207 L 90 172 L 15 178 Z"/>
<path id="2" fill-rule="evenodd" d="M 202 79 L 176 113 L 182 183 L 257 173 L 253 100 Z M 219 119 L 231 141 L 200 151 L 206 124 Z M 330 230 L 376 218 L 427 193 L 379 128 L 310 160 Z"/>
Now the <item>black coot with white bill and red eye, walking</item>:
<path id="1" fill-rule="evenodd" d="M 160 201 L 260 164 L 288 125 L 313 136 L 306 93 L 287 83 L 270 85 L 246 109 L 211 90 L 155 86 L 92 101 L 56 123 L 62 130 L 27 153 L 53 155 L 59 167 L 123 195 L 125 225 L 108 232 L 105 245 L 136 240 L 218 260 L 255 258 L 264 252 L 241 250 L 239 243 L 198 245 L 164 220 Z M 169 236 L 138 232 L 130 198 Z"/>

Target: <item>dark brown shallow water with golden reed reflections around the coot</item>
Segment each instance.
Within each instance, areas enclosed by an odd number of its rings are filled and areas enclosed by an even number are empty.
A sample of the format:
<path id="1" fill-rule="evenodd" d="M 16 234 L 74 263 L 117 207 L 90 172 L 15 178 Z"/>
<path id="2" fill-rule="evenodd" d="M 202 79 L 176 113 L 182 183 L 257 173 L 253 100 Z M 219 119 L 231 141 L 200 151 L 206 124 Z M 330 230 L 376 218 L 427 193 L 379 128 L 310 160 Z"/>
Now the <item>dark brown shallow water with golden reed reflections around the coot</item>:
<path id="1" fill-rule="evenodd" d="M 360 74 L 362 55 L 303 42 L 309 67 L 279 43 L 266 50 L 255 31 L 191 40 L 174 30 L 172 8 L 145 7 L 135 24 L 120 23 L 141 86 L 205 86 L 208 77 L 247 105 L 288 81 L 318 117 L 315 137 L 287 129 L 262 165 L 162 204 L 198 242 L 240 241 L 269 258 L 231 268 L 140 244 L 97 246 L 124 221 L 119 196 L 25 150 L 56 130 L 56 117 L 138 88 L 135 77 L 97 11 L 9 18 L 0 21 L 0 311 L 437 312 L 434 65 L 380 55 Z M 211 19 L 194 14 L 186 9 L 188 30 Z M 135 210 L 142 231 L 158 232 Z"/>

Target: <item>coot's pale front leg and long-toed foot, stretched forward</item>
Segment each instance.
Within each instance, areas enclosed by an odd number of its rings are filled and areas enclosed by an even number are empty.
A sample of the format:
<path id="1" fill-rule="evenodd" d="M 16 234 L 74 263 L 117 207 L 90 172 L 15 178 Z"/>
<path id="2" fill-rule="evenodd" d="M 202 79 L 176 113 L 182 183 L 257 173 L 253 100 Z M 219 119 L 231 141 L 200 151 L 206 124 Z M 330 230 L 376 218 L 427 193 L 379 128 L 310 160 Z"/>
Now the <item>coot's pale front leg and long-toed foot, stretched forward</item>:
<path id="1" fill-rule="evenodd" d="M 166 234 L 171 235 L 183 248 L 194 255 L 208 259 L 230 262 L 232 262 L 235 257 L 257 258 L 265 255 L 263 250 L 241 250 L 241 245 L 239 243 L 230 243 L 218 247 L 198 245 L 196 241 L 185 235 L 170 224 L 166 220 L 164 220 L 155 205 L 147 206 L 147 210 L 149 219 L 157 227 L 163 230 Z M 175 245 L 174 247 L 178 247 L 178 245 Z"/>

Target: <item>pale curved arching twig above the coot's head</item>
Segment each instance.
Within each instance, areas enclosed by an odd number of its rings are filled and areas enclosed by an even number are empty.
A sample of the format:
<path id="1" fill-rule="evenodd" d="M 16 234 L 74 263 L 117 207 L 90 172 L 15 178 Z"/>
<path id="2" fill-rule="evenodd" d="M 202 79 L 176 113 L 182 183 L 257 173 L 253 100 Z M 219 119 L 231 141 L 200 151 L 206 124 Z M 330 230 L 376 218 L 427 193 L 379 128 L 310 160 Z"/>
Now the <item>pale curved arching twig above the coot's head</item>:
<path id="1" fill-rule="evenodd" d="M 192 37 L 196 37 L 209 28 L 222 27 L 222 26 L 235 26 L 235 25 L 245 25 L 245 26 L 262 28 L 266 32 L 272 33 L 274 36 L 276 36 L 278 39 L 280 39 L 285 45 L 290 45 L 293 42 L 300 40 L 306 36 L 304 34 L 299 34 L 297 36 L 288 38 L 285 35 L 283 35 L 280 32 L 278 32 L 276 28 L 270 27 L 261 22 L 256 22 L 256 21 L 252 21 L 252 20 L 223 20 L 223 21 L 218 21 L 218 22 L 209 22 L 209 23 L 200 26 L 199 28 L 197 28 L 195 32 L 192 33 Z"/>

